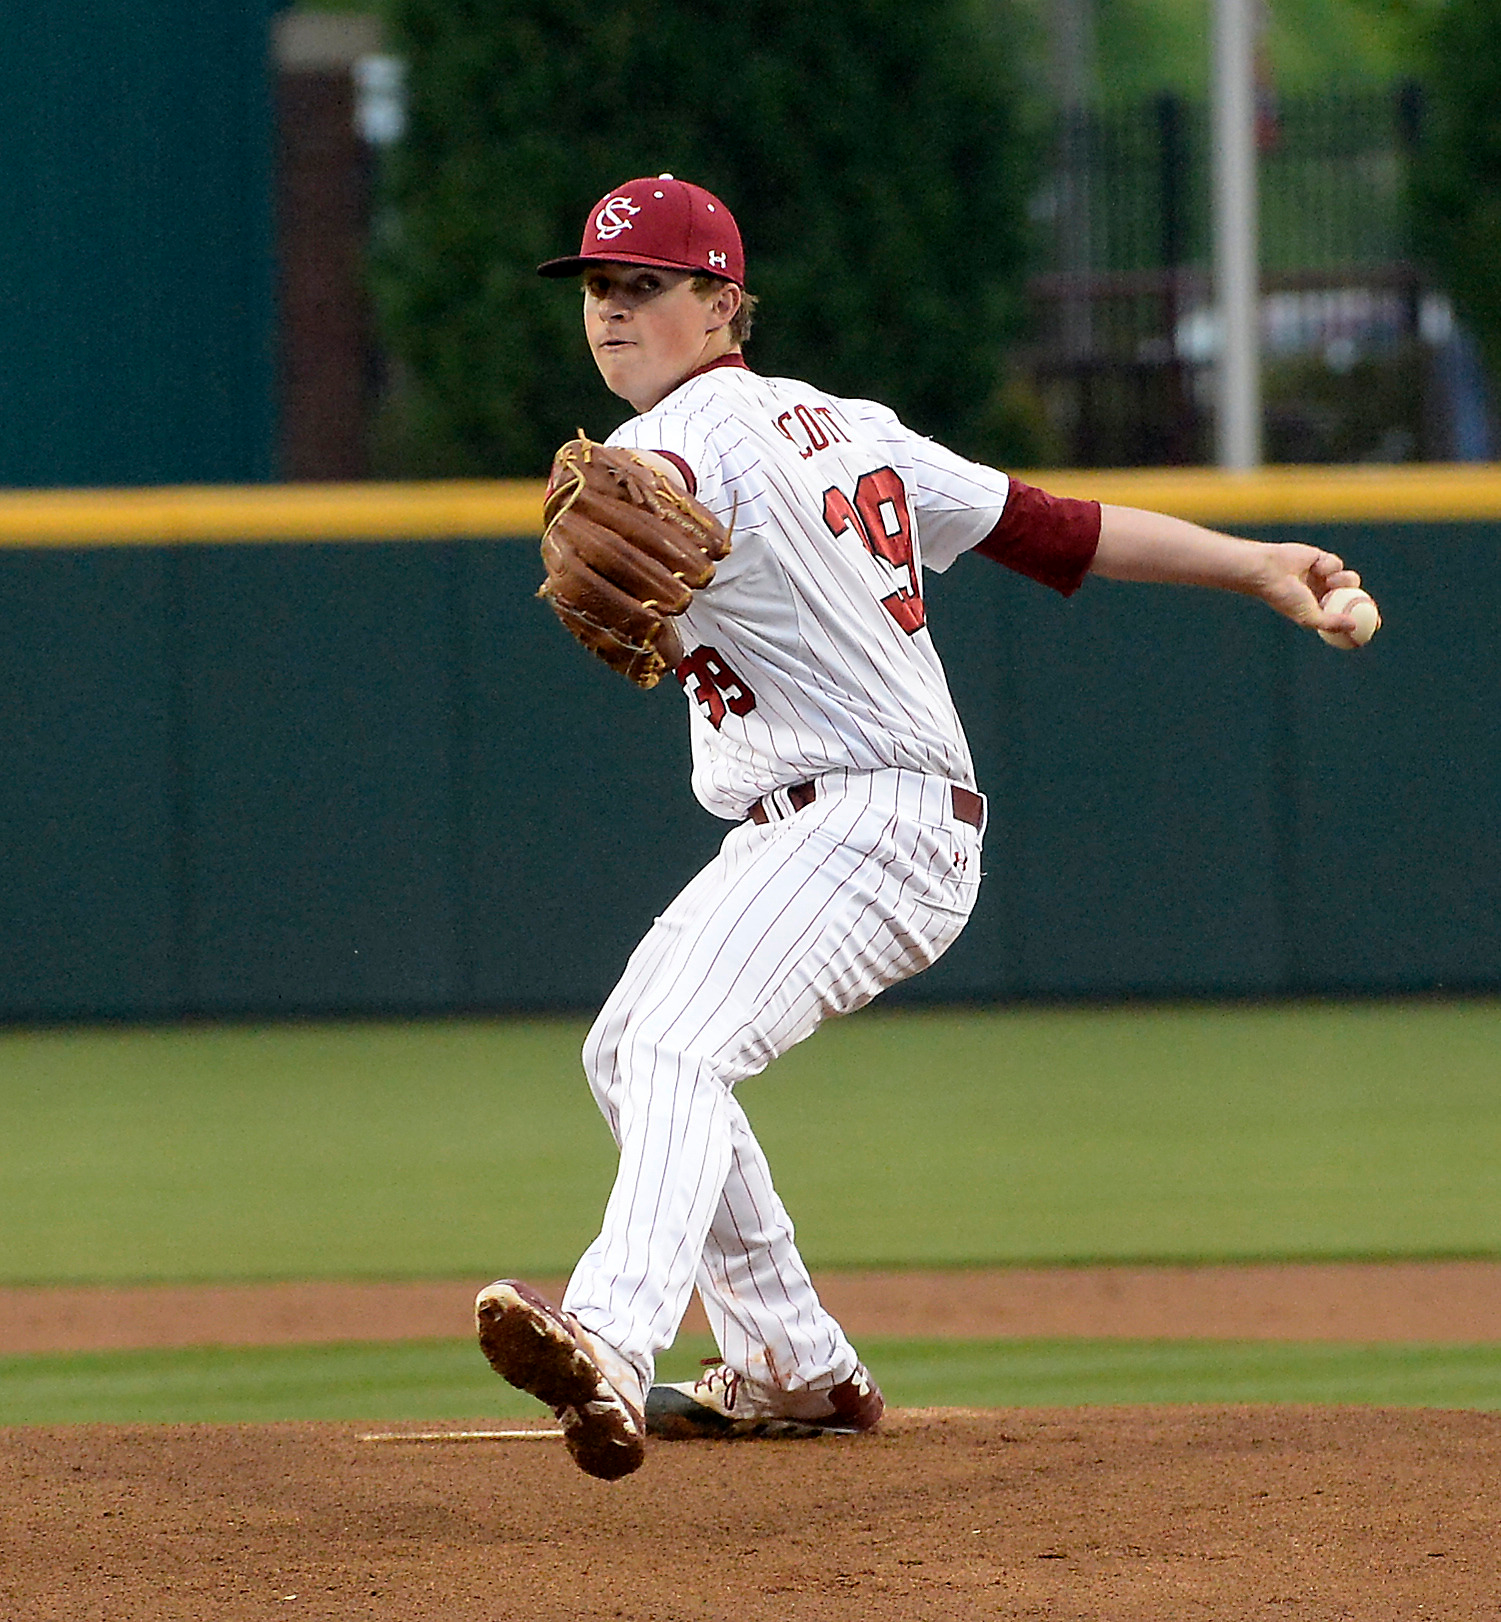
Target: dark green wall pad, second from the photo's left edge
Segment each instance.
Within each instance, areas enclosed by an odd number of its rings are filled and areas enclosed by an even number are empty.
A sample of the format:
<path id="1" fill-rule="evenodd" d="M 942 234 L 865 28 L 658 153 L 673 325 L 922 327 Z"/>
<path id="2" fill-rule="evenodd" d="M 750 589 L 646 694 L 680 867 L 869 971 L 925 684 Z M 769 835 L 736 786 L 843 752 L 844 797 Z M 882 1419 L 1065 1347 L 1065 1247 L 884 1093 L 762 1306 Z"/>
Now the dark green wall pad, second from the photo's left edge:
<path id="1" fill-rule="evenodd" d="M 191 1004 L 451 1006 L 451 553 L 204 547 L 182 564 Z"/>

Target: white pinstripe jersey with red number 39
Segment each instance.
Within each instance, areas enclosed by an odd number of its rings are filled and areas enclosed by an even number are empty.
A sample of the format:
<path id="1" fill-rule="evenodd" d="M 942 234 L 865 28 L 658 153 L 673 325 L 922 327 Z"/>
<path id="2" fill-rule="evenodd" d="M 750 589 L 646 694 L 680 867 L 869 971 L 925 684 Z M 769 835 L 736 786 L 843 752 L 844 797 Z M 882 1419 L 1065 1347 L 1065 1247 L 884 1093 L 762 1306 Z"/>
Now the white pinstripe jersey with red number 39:
<path id="1" fill-rule="evenodd" d="M 841 767 L 910 767 L 974 787 L 925 624 L 923 568 L 1000 522 L 1009 482 L 871 401 L 738 357 L 610 435 L 691 469 L 733 545 L 678 621 L 693 792 L 742 819 L 763 795 Z"/>

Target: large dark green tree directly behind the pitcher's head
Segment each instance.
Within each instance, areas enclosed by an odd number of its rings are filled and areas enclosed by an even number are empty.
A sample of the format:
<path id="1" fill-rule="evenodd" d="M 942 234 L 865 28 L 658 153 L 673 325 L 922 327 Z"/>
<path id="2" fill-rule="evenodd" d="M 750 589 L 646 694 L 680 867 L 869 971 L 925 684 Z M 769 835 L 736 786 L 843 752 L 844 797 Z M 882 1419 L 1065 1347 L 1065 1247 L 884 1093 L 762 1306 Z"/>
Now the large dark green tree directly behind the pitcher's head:
<path id="1" fill-rule="evenodd" d="M 407 133 L 376 295 L 388 466 L 545 469 L 609 431 L 578 295 L 535 276 L 612 185 L 719 193 L 763 298 L 751 362 L 1026 461 L 1006 376 L 1040 159 L 1016 0 L 393 0 Z"/>

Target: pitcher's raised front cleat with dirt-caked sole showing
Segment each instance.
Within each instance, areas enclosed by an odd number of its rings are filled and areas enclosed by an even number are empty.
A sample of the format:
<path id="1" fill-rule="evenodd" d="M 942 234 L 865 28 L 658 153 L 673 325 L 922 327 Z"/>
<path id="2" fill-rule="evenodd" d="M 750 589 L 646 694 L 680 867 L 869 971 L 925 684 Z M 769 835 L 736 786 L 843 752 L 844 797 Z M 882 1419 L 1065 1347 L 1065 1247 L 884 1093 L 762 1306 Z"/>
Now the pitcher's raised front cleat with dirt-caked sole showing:
<path id="1" fill-rule="evenodd" d="M 579 1470 L 618 1481 L 641 1468 L 646 1421 L 626 1395 L 633 1375 L 573 1314 L 544 1301 L 529 1285 L 501 1278 L 479 1293 L 474 1320 L 490 1367 L 552 1408 Z"/>

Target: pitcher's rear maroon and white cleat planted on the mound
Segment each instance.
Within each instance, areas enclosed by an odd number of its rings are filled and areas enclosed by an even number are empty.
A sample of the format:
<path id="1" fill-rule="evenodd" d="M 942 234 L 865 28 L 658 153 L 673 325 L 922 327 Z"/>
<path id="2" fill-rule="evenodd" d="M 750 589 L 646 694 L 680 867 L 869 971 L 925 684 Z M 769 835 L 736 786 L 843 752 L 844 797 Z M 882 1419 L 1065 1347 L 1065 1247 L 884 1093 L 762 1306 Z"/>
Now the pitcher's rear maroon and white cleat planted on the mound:
<path id="1" fill-rule="evenodd" d="M 884 1406 L 880 1387 L 863 1362 L 847 1380 L 823 1392 L 779 1392 L 753 1385 L 717 1362 L 696 1380 L 654 1385 L 646 1393 L 646 1434 L 678 1442 L 696 1437 L 802 1440 L 858 1435 L 876 1427 Z"/>

